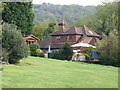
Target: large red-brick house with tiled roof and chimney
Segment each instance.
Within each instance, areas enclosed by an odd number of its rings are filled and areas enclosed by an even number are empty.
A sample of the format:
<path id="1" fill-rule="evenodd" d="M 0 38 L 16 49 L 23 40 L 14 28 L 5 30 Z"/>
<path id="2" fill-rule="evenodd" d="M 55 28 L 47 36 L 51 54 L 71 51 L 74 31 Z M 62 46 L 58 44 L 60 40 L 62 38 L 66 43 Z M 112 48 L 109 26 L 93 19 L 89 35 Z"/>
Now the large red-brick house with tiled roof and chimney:
<path id="1" fill-rule="evenodd" d="M 51 50 L 56 50 L 60 49 L 64 43 L 73 45 L 81 42 L 95 45 L 96 41 L 100 39 L 100 35 L 85 25 L 65 28 L 64 20 L 60 21 L 59 30 L 52 33 L 51 36 L 52 39 L 46 39 L 40 43 L 40 47 L 44 52 L 48 50 L 49 45 Z"/>

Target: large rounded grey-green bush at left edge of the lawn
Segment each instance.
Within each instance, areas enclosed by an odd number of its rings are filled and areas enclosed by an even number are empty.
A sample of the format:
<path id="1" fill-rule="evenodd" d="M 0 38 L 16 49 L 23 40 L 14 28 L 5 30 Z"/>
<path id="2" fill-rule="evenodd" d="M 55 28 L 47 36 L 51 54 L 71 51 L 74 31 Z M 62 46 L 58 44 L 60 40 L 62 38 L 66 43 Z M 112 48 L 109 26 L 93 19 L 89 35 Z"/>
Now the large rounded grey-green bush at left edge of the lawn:
<path id="1" fill-rule="evenodd" d="M 9 63 L 18 63 L 21 58 L 29 55 L 29 47 L 14 24 L 2 25 L 2 48 L 9 53 Z"/>

